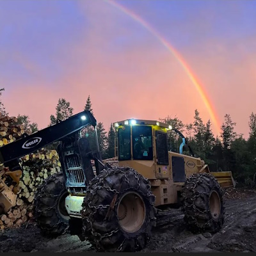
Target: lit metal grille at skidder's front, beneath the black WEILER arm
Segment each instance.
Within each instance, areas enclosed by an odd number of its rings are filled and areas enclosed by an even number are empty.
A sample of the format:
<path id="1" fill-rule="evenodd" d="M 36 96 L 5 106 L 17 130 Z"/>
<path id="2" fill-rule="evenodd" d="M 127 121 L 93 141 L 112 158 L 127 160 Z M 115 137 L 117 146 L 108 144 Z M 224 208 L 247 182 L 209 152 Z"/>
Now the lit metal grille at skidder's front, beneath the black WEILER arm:
<path id="1" fill-rule="evenodd" d="M 68 186 L 85 186 L 85 176 L 77 154 L 65 156 Z"/>

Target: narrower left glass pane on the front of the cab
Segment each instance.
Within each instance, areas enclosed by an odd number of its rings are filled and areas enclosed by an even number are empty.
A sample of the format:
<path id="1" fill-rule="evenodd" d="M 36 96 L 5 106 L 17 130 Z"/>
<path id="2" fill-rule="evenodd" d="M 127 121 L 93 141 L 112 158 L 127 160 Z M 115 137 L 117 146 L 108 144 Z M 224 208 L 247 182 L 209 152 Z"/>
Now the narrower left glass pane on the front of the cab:
<path id="1" fill-rule="evenodd" d="M 118 129 L 118 159 L 131 159 L 131 127 L 125 126 Z"/>

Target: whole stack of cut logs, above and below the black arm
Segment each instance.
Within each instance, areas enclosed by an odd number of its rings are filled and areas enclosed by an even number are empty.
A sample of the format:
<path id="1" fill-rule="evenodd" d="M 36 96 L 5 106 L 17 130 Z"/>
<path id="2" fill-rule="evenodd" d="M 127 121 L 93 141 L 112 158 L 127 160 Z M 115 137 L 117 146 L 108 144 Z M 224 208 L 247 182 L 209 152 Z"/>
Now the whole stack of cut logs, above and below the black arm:
<path id="1" fill-rule="evenodd" d="M 0 116 L 0 147 L 19 139 L 24 132 L 22 125 L 15 124 L 17 118 Z M 50 175 L 60 172 L 61 164 L 56 150 L 42 148 L 34 154 L 20 159 L 22 177 L 20 177 L 20 191 L 17 195 L 16 205 L 6 214 L 0 215 L 0 230 L 10 227 L 20 227 L 33 218 L 33 200 L 36 189 L 42 181 Z M 3 170 L 0 164 L 0 171 Z"/>

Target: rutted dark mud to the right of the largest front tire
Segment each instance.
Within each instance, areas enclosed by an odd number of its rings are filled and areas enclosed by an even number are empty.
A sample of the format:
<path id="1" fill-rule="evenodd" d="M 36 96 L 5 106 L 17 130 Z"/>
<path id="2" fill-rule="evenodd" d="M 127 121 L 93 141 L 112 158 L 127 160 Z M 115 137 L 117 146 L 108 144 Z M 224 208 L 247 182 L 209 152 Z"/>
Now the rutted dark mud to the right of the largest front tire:
<path id="1" fill-rule="evenodd" d="M 256 197 L 227 200 L 225 223 L 216 234 L 186 230 L 180 210 L 158 221 L 143 252 L 256 252 Z M 163 223 L 162 223 L 163 222 Z"/>

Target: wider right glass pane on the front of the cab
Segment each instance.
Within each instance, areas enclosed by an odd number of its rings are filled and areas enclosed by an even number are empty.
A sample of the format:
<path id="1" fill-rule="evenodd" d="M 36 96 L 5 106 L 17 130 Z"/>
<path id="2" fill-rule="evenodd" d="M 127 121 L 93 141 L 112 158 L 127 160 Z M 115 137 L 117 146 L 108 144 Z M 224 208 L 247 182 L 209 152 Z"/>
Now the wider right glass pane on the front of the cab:
<path id="1" fill-rule="evenodd" d="M 132 155 L 137 160 L 152 160 L 152 129 L 150 126 L 132 127 Z"/>

